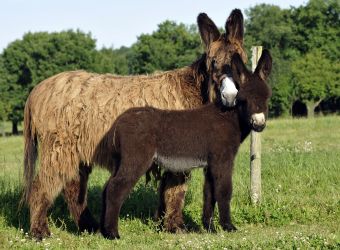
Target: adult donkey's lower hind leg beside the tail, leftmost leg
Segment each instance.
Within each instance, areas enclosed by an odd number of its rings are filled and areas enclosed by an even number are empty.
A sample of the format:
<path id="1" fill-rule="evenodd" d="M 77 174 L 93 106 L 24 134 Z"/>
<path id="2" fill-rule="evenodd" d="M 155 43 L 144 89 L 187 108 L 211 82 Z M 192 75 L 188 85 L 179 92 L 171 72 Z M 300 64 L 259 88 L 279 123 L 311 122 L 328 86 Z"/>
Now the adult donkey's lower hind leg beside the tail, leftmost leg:
<path id="1" fill-rule="evenodd" d="M 39 171 L 32 186 L 29 197 L 31 235 L 41 240 L 50 236 L 47 224 L 47 210 L 52 205 L 55 197 L 62 189 L 62 181 L 56 175 L 48 175 L 45 171 Z"/>

